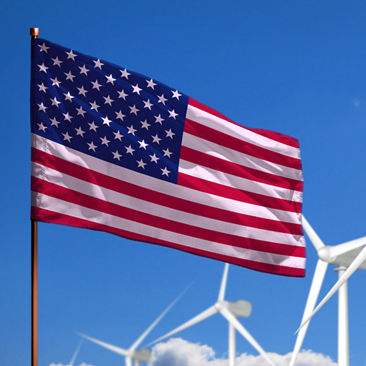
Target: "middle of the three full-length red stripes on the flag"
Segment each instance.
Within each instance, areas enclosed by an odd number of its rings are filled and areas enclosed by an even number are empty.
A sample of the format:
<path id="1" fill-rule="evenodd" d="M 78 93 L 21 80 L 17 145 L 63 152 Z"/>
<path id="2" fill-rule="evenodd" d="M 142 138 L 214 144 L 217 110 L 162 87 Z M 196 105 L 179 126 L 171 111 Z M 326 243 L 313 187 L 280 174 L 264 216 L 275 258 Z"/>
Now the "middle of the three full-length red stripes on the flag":
<path id="1" fill-rule="evenodd" d="M 36 191 L 36 189 L 40 187 L 40 180 L 40 178 L 31 177 L 32 191 Z M 116 217 L 121 217 L 122 219 L 131 220 L 178 234 L 188 235 L 193 238 L 208 240 L 210 242 L 221 243 L 229 246 L 236 246 L 243 249 L 263 251 L 265 253 L 289 255 L 300 258 L 306 257 L 304 247 L 266 242 L 264 240 L 257 240 L 254 238 L 248 239 L 238 235 L 226 234 L 211 229 L 180 223 L 178 221 L 165 219 L 163 217 L 154 216 L 149 213 L 120 206 L 116 203 L 107 202 L 100 198 L 61 187 L 55 183 L 44 181 L 40 193 L 61 199 L 65 202 L 74 203 L 81 207 L 96 210 L 101 213 L 111 214 Z"/>

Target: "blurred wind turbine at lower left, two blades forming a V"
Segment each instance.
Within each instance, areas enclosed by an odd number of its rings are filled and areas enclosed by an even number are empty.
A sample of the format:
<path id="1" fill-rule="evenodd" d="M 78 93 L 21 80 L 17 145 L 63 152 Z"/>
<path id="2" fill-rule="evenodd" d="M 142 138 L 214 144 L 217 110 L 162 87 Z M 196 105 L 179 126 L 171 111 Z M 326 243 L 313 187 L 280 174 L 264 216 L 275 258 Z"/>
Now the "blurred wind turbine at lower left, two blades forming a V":
<path id="1" fill-rule="evenodd" d="M 85 339 L 88 339 L 96 344 L 99 344 L 99 346 L 102 346 L 104 348 L 107 348 L 110 351 L 116 352 L 119 355 L 124 356 L 126 361 L 126 366 L 132 366 L 132 360 L 134 360 L 134 365 L 139 366 L 140 362 L 149 362 L 151 357 L 151 351 L 147 348 L 144 348 L 142 350 L 137 350 L 137 347 L 141 344 L 141 342 L 145 339 L 145 337 L 150 333 L 150 331 L 156 326 L 156 324 L 161 320 L 161 318 L 164 317 L 165 314 L 168 313 L 168 311 L 173 307 L 173 305 L 183 296 L 184 292 L 188 290 L 188 288 L 191 287 L 193 282 L 188 285 L 180 294 L 179 296 L 161 313 L 154 321 L 153 323 L 145 330 L 145 332 L 142 333 L 141 336 L 138 337 L 137 340 L 131 345 L 130 348 L 121 348 L 118 346 L 113 346 L 113 344 L 109 344 L 106 342 L 103 342 L 101 340 L 89 337 L 85 334 L 77 333 L 79 336 L 84 337 Z"/>

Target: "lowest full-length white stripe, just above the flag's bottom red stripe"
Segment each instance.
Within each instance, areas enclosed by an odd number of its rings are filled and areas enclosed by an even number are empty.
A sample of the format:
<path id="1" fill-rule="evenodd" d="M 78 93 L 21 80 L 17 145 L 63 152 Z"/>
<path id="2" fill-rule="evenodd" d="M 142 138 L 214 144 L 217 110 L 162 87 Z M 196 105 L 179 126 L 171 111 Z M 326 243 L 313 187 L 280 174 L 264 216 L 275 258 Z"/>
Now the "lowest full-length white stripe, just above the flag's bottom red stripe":
<path id="1" fill-rule="evenodd" d="M 188 235 L 162 230 L 149 225 L 136 223 L 134 221 L 121 219 L 107 213 L 74 205 L 61 199 L 49 197 L 32 192 L 32 206 L 51 210 L 60 214 L 66 214 L 92 223 L 107 225 L 112 228 L 123 228 L 126 231 L 157 238 L 171 243 L 181 244 L 186 247 L 205 250 L 211 253 L 228 255 L 233 258 L 248 259 L 250 261 L 273 264 L 291 268 L 305 268 L 305 258 L 288 257 L 287 255 L 269 254 L 256 250 L 242 249 L 231 245 L 211 242 L 193 238 Z M 87 217 L 87 219 L 86 219 Z"/>

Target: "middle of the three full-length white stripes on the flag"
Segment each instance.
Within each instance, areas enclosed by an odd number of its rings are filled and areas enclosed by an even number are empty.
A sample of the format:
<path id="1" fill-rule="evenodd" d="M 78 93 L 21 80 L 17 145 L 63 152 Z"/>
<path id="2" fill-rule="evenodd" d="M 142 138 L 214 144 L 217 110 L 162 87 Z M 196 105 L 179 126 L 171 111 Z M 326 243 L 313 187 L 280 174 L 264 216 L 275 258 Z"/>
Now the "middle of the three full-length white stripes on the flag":
<path id="1" fill-rule="evenodd" d="M 74 178 L 64 173 L 60 173 L 54 169 L 45 168 L 44 166 L 37 163 L 32 163 L 32 165 L 33 176 L 37 177 L 37 173 L 42 171 L 41 179 L 45 180 L 46 182 L 55 183 L 60 187 L 65 187 L 89 195 L 90 197 L 96 197 L 103 201 L 115 203 L 116 205 L 119 205 L 121 207 L 127 207 L 130 209 L 138 210 L 139 212 L 152 214 L 156 217 L 174 220 L 176 222 L 193 225 L 194 227 L 200 227 L 204 229 L 223 232 L 226 234 L 237 235 L 243 238 L 265 240 L 272 243 L 287 244 L 293 246 L 305 246 L 303 236 L 301 235 L 291 235 L 276 231 L 252 228 L 244 225 L 210 219 L 208 217 L 202 217 L 193 213 L 187 213 L 165 206 L 160 206 L 156 203 L 147 202 L 143 199 L 138 199 L 126 194 L 109 190 L 108 188 L 103 188 L 96 184 L 85 182 L 84 180 Z M 240 239 L 238 238 L 238 240 Z"/>

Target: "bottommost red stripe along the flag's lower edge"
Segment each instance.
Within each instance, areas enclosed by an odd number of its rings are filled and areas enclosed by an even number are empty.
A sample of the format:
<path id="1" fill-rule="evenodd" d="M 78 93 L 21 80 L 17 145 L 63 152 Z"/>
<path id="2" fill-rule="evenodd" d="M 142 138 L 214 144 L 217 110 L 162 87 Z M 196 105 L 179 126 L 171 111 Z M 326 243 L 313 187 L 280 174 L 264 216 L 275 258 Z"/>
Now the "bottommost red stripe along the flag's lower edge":
<path id="1" fill-rule="evenodd" d="M 209 251 L 199 250 L 191 247 L 186 247 L 180 244 L 167 242 L 165 240 L 150 238 L 149 236 L 136 234 L 127 230 L 112 228 L 107 225 L 94 223 L 91 221 L 78 219 L 76 217 L 60 214 L 50 210 L 32 207 L 31 208 L 31 219 L 45 223 L 53 223 L 59 225 L 67 225 L 78 228 L 85 228 L 97 231 L 104 231 L 110 234 L 122 236 L 126 239 L 138 240 L 150 244 L 157 244 L 173 249 L 178 249 L 187 253 L 199 255 L 201 257 L 217 259 L 230 264 L 239 265 L 245 268 L 253 269 L 258 272 L 272 273 L 274 275 L 290 276 L 290 277 L 305 277 L 305 269 L 302 268 L 291 268 L 284 266 L 277 266 L 272 264 L 265 264 L 261 262 L 249 261 L 247 259 L 241 259 L 236 257 L 229 257 L 227 255 L 211 253 Z"/>

